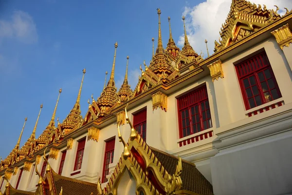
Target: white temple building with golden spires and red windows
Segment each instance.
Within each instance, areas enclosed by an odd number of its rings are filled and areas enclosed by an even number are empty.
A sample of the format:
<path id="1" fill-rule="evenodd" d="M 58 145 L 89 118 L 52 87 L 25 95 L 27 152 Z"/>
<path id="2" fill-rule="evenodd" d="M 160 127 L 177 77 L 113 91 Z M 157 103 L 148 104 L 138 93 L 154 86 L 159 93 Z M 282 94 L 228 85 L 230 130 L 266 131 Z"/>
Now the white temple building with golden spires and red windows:
<path id="1" fill-rule="evenodd" d="M 133 90 L 129 57 L 117 90 L 115 43 L 110 78 L 85 115 L 84 69 L 68 116 L 55 121 L 59 90 L 48 126 L 36 137 L 41 105 L 20 147 L 25 119 L 0 159 L 0 195 L 292 195 L 292 10 L 281 16 L 275 7 L 231 0 L 206 59 L 190 45 L 184 17 L 183 48 L 169 17 L 163 44 L 167 16 L 157 9 L 157 48 L 152 39 Z"/>

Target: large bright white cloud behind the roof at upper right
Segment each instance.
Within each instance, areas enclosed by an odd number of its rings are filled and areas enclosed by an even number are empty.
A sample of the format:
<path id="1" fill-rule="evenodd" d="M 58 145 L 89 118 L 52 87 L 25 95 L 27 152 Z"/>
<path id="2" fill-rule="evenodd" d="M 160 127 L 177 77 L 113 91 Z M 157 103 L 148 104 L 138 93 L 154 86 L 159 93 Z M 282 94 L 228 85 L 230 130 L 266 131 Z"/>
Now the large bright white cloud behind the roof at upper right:
<path id="1" fill-rule="evenodd" d="M 222 23 L 225 22 L 230 10 L 232 0 L 206 0 L 194 7 L 186 6 L 183 16 L 186 20 L 186 30 L 188 40 L 194 50 L 200 54 L 204 53 L 207 57 L 205 39 L 208 40 L 208 49 L 210 55 L 213 54 L 214 41 L 219 39 L 219 31 Z M 292 0 L 251 0 L 252 3 L 265 4 L 267 9 L 276 9 L 277 5 L 280 10 L 278 13 L 283 14 L 284 7 L 292 9 Z M 179 45 L 183 46 L 184 36 L 179 39 Z"/>

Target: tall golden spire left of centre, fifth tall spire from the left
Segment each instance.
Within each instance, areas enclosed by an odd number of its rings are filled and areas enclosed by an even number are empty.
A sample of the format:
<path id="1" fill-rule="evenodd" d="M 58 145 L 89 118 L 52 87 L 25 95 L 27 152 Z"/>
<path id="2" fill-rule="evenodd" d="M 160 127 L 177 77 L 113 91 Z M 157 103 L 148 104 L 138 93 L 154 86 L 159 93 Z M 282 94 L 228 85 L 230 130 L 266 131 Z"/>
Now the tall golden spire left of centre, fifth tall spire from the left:
<path id="1" fill-rule="evenodd" d="M 113 62 L 112 62 L 112 68 L 110 73 L 110 80 L 101 93 L 100 97 L 97 99 L 96 104 L 98 108 L 100 109 L 101 116 L 103 114 L 106 114 L 110 111 L 110 108 L 118 101 L 119 96 L 117 95 L 117 88 L 115 87 L 114 83 L 114 68 L 115 68 L 115 59 L 116 59 L 116 52 L 118 43 L 116 42 L 114 44 L 114 56 L 113 56 Z"/>

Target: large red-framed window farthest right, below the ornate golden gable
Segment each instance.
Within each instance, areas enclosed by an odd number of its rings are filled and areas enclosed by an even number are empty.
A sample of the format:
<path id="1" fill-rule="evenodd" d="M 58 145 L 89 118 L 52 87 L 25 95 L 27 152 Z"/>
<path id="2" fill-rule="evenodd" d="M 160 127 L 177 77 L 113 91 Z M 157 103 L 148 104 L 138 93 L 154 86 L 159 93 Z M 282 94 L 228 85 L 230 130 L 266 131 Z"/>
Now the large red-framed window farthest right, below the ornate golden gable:
<path id="1" fill-rule="evenodd" d="M 265 52 L 236 65 L 236 70 L 246 110 L 282 97 Z"/>

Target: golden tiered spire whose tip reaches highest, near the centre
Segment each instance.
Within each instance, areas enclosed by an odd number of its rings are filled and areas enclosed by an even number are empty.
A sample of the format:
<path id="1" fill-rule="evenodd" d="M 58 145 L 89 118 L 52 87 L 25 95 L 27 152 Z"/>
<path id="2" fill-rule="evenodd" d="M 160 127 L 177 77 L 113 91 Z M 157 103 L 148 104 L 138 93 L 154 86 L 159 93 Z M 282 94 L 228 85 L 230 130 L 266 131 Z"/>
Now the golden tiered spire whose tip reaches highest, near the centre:
<path id="1" fill-rule="evenodd" d="M 160 23 L 160 14 L 161 10 L 157 9 L 158 14 L 158 44 L 154 57 L 152 58 L 152 62 L 150 63 L 149 70 L 152 71 L 160 78 L 167 78 L 173 71 L 174 68 L 170 64 L 167 56 L 165 55 L 165 51 L 162 44 L 161 37 L 161 23 Z"/>

